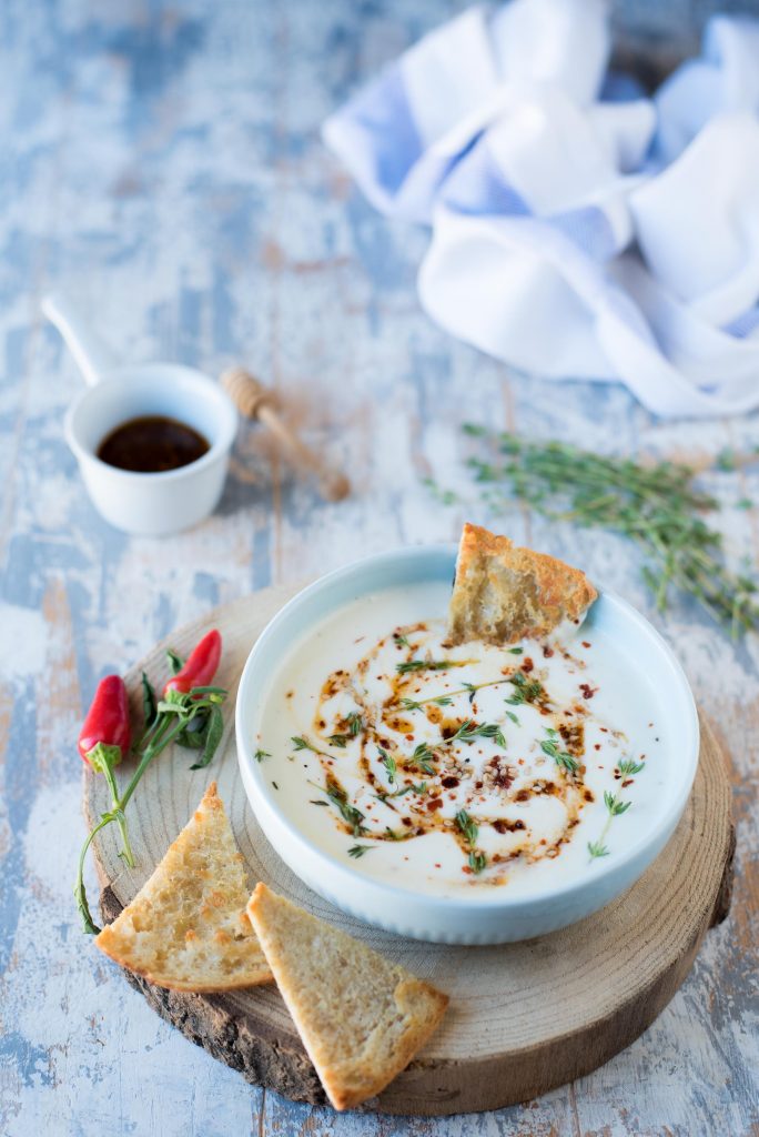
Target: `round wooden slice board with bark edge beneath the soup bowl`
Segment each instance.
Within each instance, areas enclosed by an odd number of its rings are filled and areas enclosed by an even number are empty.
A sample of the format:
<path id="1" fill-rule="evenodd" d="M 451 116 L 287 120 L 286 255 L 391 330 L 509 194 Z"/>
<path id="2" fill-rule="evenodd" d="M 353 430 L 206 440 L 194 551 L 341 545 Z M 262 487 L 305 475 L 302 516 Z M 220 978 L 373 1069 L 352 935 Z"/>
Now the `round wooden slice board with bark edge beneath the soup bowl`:
<path id="1" fill-rule="evenodd" d="M 451 996 L 440 1031 L 367 1107 L 402 1114 L 492 1110 L 535 1097 L 607 1062 L 666 1006 L 702 937 L 727 912 L 734 848 L 731 790 L 708 724 L 702 720 L 699 772 L 677 831 L 619 899 L 572 928 L 523 944 L 449 947 L 400 939 L 339 912 L 290 872 L 259 829 L 237 773 L 232 713 L 237 681 L 256 638 L 294 591 L 266 589 L 217 608 L 158 645 L 127 677 L 136 708 L 141 671 L 164 681 L 165 648 L 186 654 L 203 631 L 216 626 L 224 637 L 218 678 L 231 698 L 211 766 L 191 772 L 194 755 L 175 748 L 147 772 L 128 808 L 137 868 L 130 871 L 117 857 L 117 827 L 108 827 L 95 844 L 103 919 L 112 920 L 132 901 L 216 779 L 251 887 L 266 881 Z M 122 771 L 124 781 L 128 772 Z M 85 774 L 84 803 L 89 819 L 108 808 L 102 778 Z M 325 1101 L 275 986 L 186 995 L 128 973 L 127 979 L 159 1014 L 249 1081 L 294 1101 Z"/>

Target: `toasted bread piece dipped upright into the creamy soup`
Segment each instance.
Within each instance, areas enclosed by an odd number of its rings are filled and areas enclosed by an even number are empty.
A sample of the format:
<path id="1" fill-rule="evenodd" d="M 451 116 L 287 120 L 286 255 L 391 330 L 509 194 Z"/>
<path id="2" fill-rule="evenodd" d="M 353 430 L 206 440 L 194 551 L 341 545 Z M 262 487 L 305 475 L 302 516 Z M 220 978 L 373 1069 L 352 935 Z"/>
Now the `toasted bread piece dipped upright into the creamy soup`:
<path id="1" fill-rule="evenodd" d="M 579 624 L 597 596 L 578 568 L 466 524 L 449 608 L 449 642 L 545 639 L 559 624 Z"/>

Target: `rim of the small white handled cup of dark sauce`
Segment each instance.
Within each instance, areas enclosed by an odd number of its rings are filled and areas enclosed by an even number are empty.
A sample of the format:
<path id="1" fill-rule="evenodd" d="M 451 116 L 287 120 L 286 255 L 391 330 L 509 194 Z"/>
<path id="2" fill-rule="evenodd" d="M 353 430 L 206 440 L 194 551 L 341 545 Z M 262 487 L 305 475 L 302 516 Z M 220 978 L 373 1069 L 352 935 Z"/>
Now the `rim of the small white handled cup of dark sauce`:
<path id="1" fill-rule="evenodd" d="M 164 372 L 168 375 L 175 375 L 177 377 L 184 377 L 191 383 L 202 382 L 207 384 L 205 395 L 215 399 L 217 404 L 224 408 L 224 414 L 227 416 L 227 421 L 223 424 L 223 429 L 219 435 L 211 442 L 205 454 L 201 454 L 199 458 L 194 462 L 189 462 L 184 466 L 176 466 L 174 470 L 156 470 L 152 473 L 144 470 L 123 470 L 120 466 L 111 466 L 110 463 L 103 462 L 99 458 L 94 450 L 87 449 L 87 447 L 82 446 L 74 429 L 74 418 L 77 412 L 87 399 L 98 398 L 93 392 L 110 388 L 112 383 L 128 383 L 134 382 L 135 379 L 140 381 L 141 379 L 149 379 L 150 373 L 156 373 L 160 380 L 160 373 Z M 125 377 L 120 379 L 119 375 Z M 127 376 L 133 374 L 133 379 Z M 187 425 L 186 421 L 177 415 L 177 421 L 183 422 Z M 193 428 L 194 429 L 194 428 Z M 94 466 L 102 470 L 107 470 L 110 474 L 124 475 L 126 478 L 136 478 L 145 481 L 160 481 L 170 482 L 177 481 L 178 479 L 185 476 L 189 473 L 199 473 L 205 470 L 206 466 L 212 465 L 218 458 L 228 454 L 234 443 L 235 434 L 237 432 L 237 412 L 235 410 L 234 404 L 226 391 L 219 387 L 210 375 L 207 375 L 202 371 L 197 371 L 194 367 L 185 367 L 183 364 L 173 363 L 157 363 L 157 364 L 143 364 L 136 365 L 134 367 L 119 367 L 118 371 L 114 372 L 112 379 L 107 379 L 94 387 L 86 387 L 83 391 L 78 393 L 74 402 L 70 405 L 66 412 L 66 417 L 64 420 L 64 433 L 66 435 L 66 441 L 68 442 L 70 449 L 74 451 L 75 457 L 78 462 L 89 462 Z M 105 437 L 105 435 L 103 435 Z M 102 441 L 102 439 L 101 439 Z"/>

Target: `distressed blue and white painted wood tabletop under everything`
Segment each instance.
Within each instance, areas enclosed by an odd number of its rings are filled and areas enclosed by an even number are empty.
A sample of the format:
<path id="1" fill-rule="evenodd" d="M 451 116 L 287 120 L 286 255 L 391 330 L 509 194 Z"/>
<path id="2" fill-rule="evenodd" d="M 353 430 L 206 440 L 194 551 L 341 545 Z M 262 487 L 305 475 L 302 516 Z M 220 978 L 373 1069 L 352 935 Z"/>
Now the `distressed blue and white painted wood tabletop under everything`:
<path id="1" fill-rule="evenodd" d="M 509 518 L 579 561 L 672 644 L 732 757 L 729 918 L 681 991 L 595 1073 L 527 1103 L 443 1121 L 336 1117 L 252 1089 L 161 1022 L 81 937 L 74 739 L 98 678 L 252 589 L 359 553 L 452 540 L 465 418 L 599 450 L 703 459 L 759 443 L 756 415 L 668 423 L 622 389 L 525 379 L 422 314 L 420 230 L 376 216 L 324 151 L 324 116 L 459 5 L 433 0 L 6 0 L 0 6 L 0 1132 L 744 1137 L 759 1126 L 759 641 L 734 645 L 686 601 L 657 614 L 614 536 Z M 659 5 L 664 14 L 667 6 Z M 702 6 L 673 6 L 683 22 Z M 664 18 L 664 16 L 661 17 Z M 124 359 L 244 363 L 305 437 L 350 471 L 323 504 L 243 428 L 217 514 L 172 541 L 93 513 L 62 439 L 81 380 L 39 314 L 74 293 Z M 759 557 L 757 466 L 703 482 L 731 562 Z M 482 509 L 467 511 L 473 521 Z M 94 880 L 91 878 L 91 887 Z"/>

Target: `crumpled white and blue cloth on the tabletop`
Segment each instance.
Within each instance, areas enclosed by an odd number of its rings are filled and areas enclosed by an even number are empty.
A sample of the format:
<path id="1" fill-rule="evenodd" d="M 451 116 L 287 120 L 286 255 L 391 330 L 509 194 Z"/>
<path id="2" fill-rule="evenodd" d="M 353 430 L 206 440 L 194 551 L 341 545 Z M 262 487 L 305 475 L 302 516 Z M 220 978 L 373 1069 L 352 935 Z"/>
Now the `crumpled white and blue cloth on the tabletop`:
<path id="1" fill-rule="evenodd" d="M 759 20 L 714 17 L 650 99 L 603 0 L 511 0 L 432 32 L 324 125 L 377 209 L 427 224 L 441 326 L 660 415 L 759 406 Z"/>

